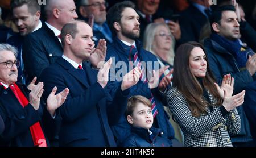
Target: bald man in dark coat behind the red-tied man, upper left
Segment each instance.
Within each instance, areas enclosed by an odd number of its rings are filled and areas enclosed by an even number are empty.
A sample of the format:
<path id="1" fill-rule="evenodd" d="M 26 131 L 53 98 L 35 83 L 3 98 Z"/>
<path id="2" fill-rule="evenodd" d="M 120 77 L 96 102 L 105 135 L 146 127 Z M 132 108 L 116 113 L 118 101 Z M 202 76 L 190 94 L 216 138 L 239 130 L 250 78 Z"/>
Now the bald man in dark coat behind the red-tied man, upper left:
<path id="1" fill-rule="evenodd" d="M 23 45 L 24 68 L 30 81 L 35 76 L 39 77 L 44 68 L 63 54 L 60 30 L 64 24 L 77 18 L 73 0 L 49 0 L 44 9 L 46 22 L 42 28 L 28 35 Z"/>

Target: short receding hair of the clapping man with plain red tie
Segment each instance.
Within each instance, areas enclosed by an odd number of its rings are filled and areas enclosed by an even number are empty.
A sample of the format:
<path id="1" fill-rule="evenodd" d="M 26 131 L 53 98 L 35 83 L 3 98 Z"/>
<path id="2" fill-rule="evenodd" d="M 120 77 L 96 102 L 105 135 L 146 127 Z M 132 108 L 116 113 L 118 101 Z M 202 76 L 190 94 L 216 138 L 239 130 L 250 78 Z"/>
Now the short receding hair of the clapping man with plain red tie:
<path id="1" fill-rule="evenodd" d="M 74 22 L 65 24 L 63 26 L 63 28 L 61 29 L 60 40 L 61 40 L 63 47 L 65 45 L 65 37 L 67 34 L 71 35 L 73 39 L 76 37 L 76 34 L 78 33 L 78 30 L 77 30 L 78 22 L 86 23 L 84 20 L 75 20 Z"/>

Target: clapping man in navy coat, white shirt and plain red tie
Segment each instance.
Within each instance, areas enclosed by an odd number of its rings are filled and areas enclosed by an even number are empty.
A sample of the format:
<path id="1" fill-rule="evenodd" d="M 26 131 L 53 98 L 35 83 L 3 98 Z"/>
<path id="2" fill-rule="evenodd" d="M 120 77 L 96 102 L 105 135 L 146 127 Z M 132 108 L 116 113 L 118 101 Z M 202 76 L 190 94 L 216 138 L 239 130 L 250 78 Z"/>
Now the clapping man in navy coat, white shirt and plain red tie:
<path id="1" fill-rule="evenodd" d="M 40 76 L 45 83 L 44 97 L 55 85 L 59 90 L 70 89 L 60 108 L 61 146 L 115 146 L 109 126 L 117 123 L 125 112 L 129 88 L 141 74 L 139 68 L 127 73 L 112 99 L 105 91 L 112 59 L 101 63 L 105 60 L 106 41 L 100 40 L 94 48 L 92 36 L 92 28 L 81 20 L 66 24 L 61 30 L 63 56 Z M 93 68 L 82 63 L 84 60 L 89 60 Z M 97 67 L 101 69 L 97 71 Z"/>

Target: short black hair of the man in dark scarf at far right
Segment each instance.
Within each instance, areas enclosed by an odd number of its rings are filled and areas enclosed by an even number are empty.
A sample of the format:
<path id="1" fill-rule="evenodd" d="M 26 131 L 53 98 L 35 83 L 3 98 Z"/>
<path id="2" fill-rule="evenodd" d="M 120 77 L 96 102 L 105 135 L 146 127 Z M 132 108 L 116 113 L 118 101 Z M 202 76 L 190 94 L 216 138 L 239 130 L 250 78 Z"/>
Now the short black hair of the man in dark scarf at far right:
<path id="1" fill-rule="evenodd" d="M 212 24 L 213 23 L 220 24 L 220 20 L 222 18 L 222 13 L 224 11 L 236 11 L 236 9 L 232 5 L 225 5 L 225 6 L 220 6 L 216 10 L 214 10 L 212 12 L 212 15 L 210 16 L 210 28 L 211 28 L 212 32 L 215 32 L 212 28 Z"/>

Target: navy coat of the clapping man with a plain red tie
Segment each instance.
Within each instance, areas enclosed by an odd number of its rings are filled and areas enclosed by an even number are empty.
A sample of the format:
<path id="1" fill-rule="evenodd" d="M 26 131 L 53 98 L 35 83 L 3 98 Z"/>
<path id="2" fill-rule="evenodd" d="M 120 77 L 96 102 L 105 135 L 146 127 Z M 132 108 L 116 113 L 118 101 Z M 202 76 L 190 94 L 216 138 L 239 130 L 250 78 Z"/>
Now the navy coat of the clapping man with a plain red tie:
<path id="1" fill-rule="evenodd" d="M 97 70 L 82 65 L 75 69 L 60 57 L 56 63 L 44 69 L 44 99 L 54 86 L 58 92 L 69 88 L 69 94 L 60 107 L 63 118 L 59 140 L 61 146 L 115 146 L 110 125 L 118 122 L 127 106 L 129 89 L 117 90 L 115 97 L 97 82 Z"/>

